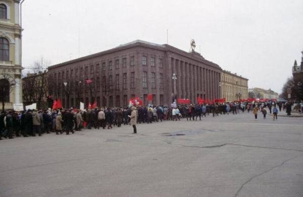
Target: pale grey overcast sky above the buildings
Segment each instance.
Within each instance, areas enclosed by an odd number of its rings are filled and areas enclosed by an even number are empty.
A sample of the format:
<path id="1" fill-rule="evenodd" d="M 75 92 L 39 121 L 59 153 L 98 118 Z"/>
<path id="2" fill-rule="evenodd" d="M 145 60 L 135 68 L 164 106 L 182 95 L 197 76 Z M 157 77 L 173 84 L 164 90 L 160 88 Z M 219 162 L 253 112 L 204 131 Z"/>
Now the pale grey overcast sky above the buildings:
<path id="1" fill-rule="evenodd" d="M 22 11 L 24 67 L 138 39 L 166 44 L 169 29 L 169 45 L 188 51 L 193 38 L 197 52 L 247 77 L 249 88 L 280 93 L 303 49 L 302 0 L 26 0 Z"/>

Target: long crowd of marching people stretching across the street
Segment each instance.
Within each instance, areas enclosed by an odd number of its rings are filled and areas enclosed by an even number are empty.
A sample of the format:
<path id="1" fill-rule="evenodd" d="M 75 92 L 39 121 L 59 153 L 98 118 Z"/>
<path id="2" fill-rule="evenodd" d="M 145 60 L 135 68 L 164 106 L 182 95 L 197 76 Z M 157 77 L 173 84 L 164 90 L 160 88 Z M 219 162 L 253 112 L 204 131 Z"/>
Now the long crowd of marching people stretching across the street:
<path id="1" fill-rule="evenodd" d="M 277 119 L 278 111 L 286 110 L 290 114 L 292 103 L 214 103 L 214 104 L 189 104 L 176 106 L 129 106 L 129 107 L 104 107 L 84 110 L 56 109 L 27 110 L 27 111 L 2 111 L 0 114 L 0 139 L 28 136 L 41 136 L 43 133 L 55 132 L 57 135 L 74 133 L 85 129 L 112 129 L 121 125 L 131 125 L 133 133 L 137 133 L 136 125 L 141 123 L 151 124 L 162 121 L 201 121 L 201 117 L 219 114 L 248 113 L 252 111 L 255 119 L 258 113 L 266 118 L 267 108 L 273 113 L 273 120 Z M 303 105 L 302 105 L 303 107 Z M 279 110 L 278 110 L 279 108 Z"/>

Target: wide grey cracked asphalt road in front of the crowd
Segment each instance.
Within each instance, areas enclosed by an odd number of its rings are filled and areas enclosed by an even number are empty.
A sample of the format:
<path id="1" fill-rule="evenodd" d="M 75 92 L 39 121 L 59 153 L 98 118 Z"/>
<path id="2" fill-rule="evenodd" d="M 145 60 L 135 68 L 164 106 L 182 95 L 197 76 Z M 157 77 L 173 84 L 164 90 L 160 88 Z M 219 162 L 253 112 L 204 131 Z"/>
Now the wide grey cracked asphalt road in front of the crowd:
<path id="1" fill-rule="evenodd" d="M 137 130 L 2 140 L 0 196 L 303 196 L 302 117 L 229 114 Z"/>

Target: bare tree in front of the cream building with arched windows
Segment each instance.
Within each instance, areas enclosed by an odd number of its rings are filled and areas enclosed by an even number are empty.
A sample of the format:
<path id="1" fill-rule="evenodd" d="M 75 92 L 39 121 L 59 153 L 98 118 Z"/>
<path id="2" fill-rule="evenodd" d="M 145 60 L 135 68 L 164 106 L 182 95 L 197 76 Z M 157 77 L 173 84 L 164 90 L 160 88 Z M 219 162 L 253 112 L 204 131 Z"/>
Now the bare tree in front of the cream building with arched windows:
<path id="1" fill-rule="evenodd" d="M 2 102 L 2 110 L 4 110 L 5 102 L 10 102 L 10 93 L 13 91 L 14 86 L 16 86 L 15 77 L 4 73 L 0 78 L 0 101 Z"/>

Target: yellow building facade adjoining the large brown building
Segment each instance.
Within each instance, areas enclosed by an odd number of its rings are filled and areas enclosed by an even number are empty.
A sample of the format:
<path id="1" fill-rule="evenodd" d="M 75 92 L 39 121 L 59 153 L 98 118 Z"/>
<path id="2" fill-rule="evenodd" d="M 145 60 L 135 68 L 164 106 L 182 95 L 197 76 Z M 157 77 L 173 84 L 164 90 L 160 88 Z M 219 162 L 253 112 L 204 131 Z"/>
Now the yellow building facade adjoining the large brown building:
<path id="1" fill-rule="evenodd" d="M 248 98 L 248 79 L 223 70 L 221 77 L 222 97 L 226 102 L 238 101 Z"/>

